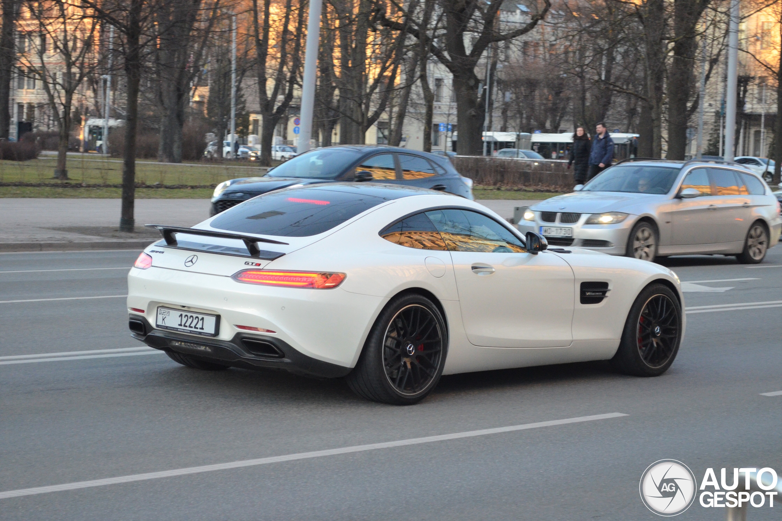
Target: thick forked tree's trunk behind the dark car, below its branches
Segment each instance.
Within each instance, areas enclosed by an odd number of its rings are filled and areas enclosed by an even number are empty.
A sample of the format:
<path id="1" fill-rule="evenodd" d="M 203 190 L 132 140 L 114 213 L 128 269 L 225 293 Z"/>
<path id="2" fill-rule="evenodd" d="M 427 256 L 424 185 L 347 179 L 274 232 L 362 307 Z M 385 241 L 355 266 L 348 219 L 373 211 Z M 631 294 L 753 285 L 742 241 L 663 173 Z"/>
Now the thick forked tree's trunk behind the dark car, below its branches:
<path id="1" fill-rule="evenodd" d="M 457 136 L 456 153 L 460 156 L 480 156 L 483 153 L 483 117 L 485 92 L 479 96 L 478 77 L 472 69 L 454 74 L 456 91 Z"/>

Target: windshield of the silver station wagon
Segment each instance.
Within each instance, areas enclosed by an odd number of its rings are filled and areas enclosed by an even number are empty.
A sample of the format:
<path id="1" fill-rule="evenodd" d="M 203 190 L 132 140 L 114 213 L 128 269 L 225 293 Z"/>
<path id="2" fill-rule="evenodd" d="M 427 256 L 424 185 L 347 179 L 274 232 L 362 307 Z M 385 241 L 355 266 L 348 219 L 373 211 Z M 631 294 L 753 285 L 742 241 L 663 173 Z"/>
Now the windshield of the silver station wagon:
<path id="1" fill-rule="evenodd" d="M 680 167 L 621 165 L 602 171 L 583 187 L 584 192 L 670 192 Z"/>

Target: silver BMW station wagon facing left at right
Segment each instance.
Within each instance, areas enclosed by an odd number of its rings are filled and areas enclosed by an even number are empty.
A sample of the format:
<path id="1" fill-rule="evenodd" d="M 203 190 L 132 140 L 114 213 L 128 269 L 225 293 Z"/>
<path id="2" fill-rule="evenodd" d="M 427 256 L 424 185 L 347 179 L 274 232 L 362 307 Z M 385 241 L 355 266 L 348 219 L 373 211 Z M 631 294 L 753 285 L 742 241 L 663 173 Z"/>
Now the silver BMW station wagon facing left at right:
<path id="1" fill-rule="evenodd" d="M 722 253 L 756 264 L 777 244 L 782 218 L 768 185 L 736 163 L 626 160 L 529 207 L 517 227 L 551 246 L 644 260 Z"/>

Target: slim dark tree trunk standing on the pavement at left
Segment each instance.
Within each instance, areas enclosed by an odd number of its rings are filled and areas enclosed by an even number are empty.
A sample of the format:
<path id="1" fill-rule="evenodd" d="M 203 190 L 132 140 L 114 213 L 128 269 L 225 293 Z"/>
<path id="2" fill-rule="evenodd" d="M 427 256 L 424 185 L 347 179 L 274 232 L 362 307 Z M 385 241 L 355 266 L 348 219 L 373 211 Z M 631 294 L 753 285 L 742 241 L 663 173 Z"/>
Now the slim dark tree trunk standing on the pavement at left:
<path id="1" fill-rule="evenodd" d="M 125 115 L 125 149 L 122 163 L 122 211 L 120 232 L 135 230 L 136 193 L 136 131 L 138 130 L 138 87 L 142 76 L 141 62 L 141 13 L 143 0 L 131 0 L 127 24 L 127 54 L 125 74 L 127 76 L 127 102 Z M 222 137 L 220 144 L 222 145 Z M 222 147 L 220 147 L 222 149 Z"/>

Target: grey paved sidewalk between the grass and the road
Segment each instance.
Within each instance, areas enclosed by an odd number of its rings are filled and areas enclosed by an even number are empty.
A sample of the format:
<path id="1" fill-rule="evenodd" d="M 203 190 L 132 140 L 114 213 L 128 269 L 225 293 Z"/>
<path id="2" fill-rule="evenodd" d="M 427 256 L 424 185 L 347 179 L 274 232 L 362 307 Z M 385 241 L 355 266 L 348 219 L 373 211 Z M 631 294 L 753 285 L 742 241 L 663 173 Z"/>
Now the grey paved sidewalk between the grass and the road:
<path id="1" fill-rule="evenodd" d="M 502 217 L 537 201 L 480 200 Z M 160 233 L 144 225 L 192 226 L 209 218 L 209 199 L 137 199 L 136 232 L 119 232 L 120 199 L 2 199 L 0 252 L 141 249 Z"/>

